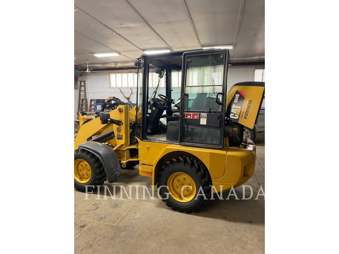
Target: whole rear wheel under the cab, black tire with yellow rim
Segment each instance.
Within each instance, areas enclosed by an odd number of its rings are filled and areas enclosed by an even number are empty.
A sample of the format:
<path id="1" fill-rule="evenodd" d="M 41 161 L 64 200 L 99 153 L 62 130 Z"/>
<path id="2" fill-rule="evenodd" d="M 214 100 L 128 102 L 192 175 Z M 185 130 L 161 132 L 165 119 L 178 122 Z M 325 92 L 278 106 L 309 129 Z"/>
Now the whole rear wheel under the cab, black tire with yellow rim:
<path id="1" fill-rule="evenodd" d="M 159 171 L 159 194 L 162 198 L 168 195 L 162 200 L 174 211 L 192 213 L 201 210 L 211 197 L 210 185 L 212 181 L 207 168 L 191 157 L 173 158 Z"/>

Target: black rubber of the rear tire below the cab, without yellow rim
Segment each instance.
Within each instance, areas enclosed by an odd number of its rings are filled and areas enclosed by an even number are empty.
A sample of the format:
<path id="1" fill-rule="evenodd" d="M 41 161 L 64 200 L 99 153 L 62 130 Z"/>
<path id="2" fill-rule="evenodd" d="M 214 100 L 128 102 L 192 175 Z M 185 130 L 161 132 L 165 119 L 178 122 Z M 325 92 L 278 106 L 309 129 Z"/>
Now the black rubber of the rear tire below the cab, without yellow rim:
<path id="1" fill-rule="evenodd" d="M 169 195 L 167 199 L 162 200 L 166 202 L 166 206 L 171 207 L 174 211 L 178 210 L 179 212 L 185 213 L 200 211 L 211 197 L 210 185 L 212 185 L 212 180 L 207 168 L 198 160 L 187 156 L 176 157 L 166 162 L 160 169 L 158 178 L 158 188 L 160 186 L 166 186 L 166 188 L 161 187 L 159 190 L 159 194 L 162 198 L 166 198 L 167 195 L 165 193 L 168 193 L 168 178 L 176 172 L 183 172 L 191 176 L 197 188 L 196 195 L 199 193 L 201 186 L 207 199 L 204 199 L 200 192 L 197 199 L 195 199 L 195 196 L 192 200 L 185 203 L 175 200 L 171 195 Z"/>

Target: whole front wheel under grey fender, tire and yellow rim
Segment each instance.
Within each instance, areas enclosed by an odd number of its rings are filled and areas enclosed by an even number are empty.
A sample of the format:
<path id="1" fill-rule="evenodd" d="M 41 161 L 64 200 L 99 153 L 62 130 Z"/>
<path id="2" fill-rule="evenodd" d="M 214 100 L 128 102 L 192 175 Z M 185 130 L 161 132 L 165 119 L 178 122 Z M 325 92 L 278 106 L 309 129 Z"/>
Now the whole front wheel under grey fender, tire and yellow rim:
<path id="1" fill-rule="evenodd" d="M 76 190 L 85 192 L 87 186 L 87 192 L 92 192 L 98 188 L 97 186 L 103 185 L 106 179 L 105 169 L 95 154 L 82 148 L 74 151 L 74 187 Z"/>

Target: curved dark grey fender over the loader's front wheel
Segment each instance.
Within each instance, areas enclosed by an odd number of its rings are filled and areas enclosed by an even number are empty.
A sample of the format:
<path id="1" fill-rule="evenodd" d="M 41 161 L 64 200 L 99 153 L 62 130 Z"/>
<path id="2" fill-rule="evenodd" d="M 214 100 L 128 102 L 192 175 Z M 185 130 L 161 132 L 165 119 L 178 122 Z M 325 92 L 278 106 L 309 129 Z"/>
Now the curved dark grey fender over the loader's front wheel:
<path id="1" fill-rule="evenodd" d="M 78 147 L 94 153 L 99 158 L 106 171 L 108 183 L 114 183 L 120 179 L 120 163 L 112 148 L 94 141 L 84 142 Z"/>

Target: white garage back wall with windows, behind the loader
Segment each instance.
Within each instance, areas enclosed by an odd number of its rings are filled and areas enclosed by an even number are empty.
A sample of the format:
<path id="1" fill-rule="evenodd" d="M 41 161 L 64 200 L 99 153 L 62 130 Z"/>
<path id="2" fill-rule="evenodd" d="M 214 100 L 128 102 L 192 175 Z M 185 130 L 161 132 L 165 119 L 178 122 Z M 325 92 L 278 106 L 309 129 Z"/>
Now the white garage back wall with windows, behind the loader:
<path id="1" fill-rule="evenodd" d="M 261 66 L 230 66 L 228 67 L 228 78 L 227 78 L 227 92 L 230 90 L 231 86 L 233 86 L 237 82 L 242 81 L 253 81 L 254 80 L 254 70 L 258 68 L 265 68 L 264 65 Z M 119 91 L 119 88 L 111 88 L 109 81 L 109 73 L 118 73 L 124 71 L 97 71 L 86 73 L 83 72 L 83 75 L 78 78 L 78 81 L 85 80 L 86 81 L 86 92 L 87 92 L 87 101 L 89 103 L 90 99 L 108 99 L 109 96 L 115 96 L 120 98 L 122 101 L 126 101 L 123 98 L 123 95 Z M 129 71 L 131 72 L 131 71 Z M 79 83 L 79 82 L 78 82 Z M 129 96 L 131 90 L 129 88 L 120 88 L 121 91 Z M 131 101 L 136 102 L 136 90 L 137 88 L 132 88 L 133 94 L 131 96 Z M 152 90 L 153 92 L 153 90 Z M 151 92 L 151 93 L 152 93 Z M 164 88 L 159 88 L 158 93 L 165 94 Z M 180 88 L 173 88 L 172 98 L 177 101 L 180 97 Z M 78 111 L 78 98 L 79 98 L 79 90 L 74 89 L 74 119 L 77 119 L 77 111 Z"/>

